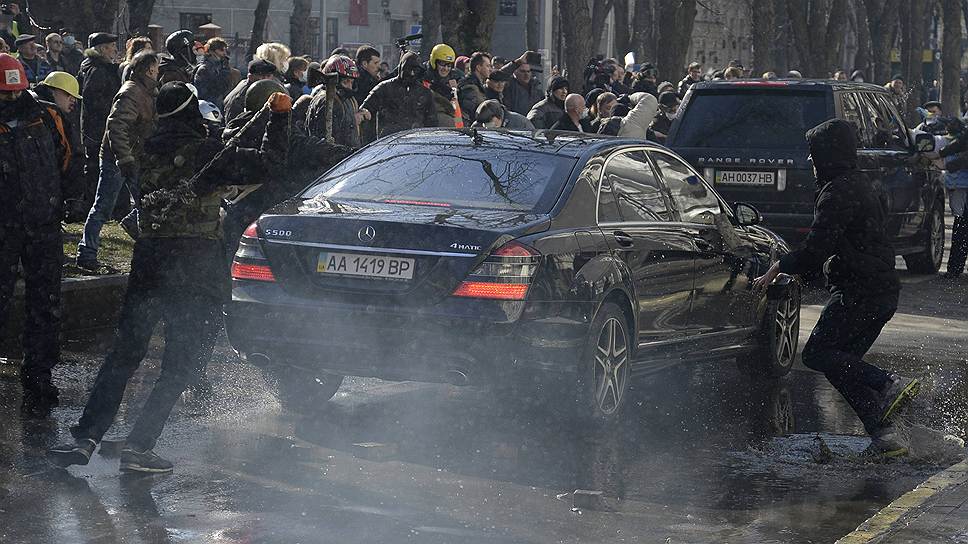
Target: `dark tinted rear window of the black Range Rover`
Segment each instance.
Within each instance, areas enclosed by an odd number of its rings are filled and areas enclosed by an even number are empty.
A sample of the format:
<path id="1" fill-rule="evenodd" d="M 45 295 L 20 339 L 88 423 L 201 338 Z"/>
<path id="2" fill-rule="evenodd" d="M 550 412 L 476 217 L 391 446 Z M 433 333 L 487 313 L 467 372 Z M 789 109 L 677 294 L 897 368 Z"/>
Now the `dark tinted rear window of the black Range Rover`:
<path id="1" fill-rule="evenodd" d="M 830 118 L 827 96 L 810 91 L 699 91 L 689 100 L 670 145 L 806 148 L 806 132 Z"/>

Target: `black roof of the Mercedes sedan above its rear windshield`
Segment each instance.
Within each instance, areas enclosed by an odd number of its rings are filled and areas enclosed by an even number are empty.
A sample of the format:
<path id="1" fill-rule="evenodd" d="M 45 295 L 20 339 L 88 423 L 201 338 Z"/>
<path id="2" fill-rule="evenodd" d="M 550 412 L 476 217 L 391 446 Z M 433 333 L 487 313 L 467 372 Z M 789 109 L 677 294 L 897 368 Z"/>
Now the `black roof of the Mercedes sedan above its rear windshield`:
<path id="1" fill-rule="evenodd" d="M 475 138 L 476 134 L 476 138 Z M 620 146 L 649 146 L 668 151 L 655 142 L 557 130 L 506 130 L 471 128 L 423 128 L 398 132 L 371 145 L 463 145 L 532 151 L 562 157 L 582 158 Z"/>

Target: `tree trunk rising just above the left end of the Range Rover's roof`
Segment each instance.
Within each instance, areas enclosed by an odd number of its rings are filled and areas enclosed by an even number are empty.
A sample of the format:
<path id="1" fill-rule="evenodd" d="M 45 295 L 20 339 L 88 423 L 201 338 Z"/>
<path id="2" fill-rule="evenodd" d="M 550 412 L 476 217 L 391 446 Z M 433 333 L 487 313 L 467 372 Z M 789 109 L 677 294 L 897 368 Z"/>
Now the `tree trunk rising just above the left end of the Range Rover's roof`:
<path id="1" fill-rule="evenodd" d="M 686 53 L 696 22 L 696 0 L 657 0 L 656 54 L 659 81 L 676 81 L 685 71 Z"/>

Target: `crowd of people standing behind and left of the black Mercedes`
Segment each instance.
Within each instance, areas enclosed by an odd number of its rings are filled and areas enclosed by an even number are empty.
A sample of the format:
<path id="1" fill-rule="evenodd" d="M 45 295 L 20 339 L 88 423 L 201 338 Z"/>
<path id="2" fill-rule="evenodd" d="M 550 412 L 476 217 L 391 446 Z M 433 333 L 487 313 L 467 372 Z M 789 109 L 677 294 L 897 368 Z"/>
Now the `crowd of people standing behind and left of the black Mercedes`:
<path id="1" fill-rule="evenodd" d="M 533 51 L 508 60 L 459 55 L 447 44 L 427 59 L 404 51 L 391 71 L 371 46 L 316 61 L 264 43 L 243 76 L 224 39 L 201 44 L 189 30 L 169 35 L 163 51 L 145 37 L 120 50 L 118 36 L 95 32 L 81 51 L 68 32 L 47 34 L 41 48 L 20 28 L 17 14 L 0 16 L 0 323 L 22 264 L 25 413 L 49 413 L 59 399 L 51 370 L 59 360 L 62 220 L 84 221 L 74 264 L 87 271 L 106 270 L 98 250 L 112 217 L 136 240 L 118 333 L 72 428 L 76 440 L 49 452 L 61 466 L 87 463 L 164 320 L 161 378 L 121 463 L 171 470 L 152 448 L 176 399 L 205 382 L 240 236 L 355 149 L 419 127 L 661 143 L 685 93 L 704 79 L 698 63 L 673 84 L 657 81 L 651 64 L 606 58 L 592 59 L 583 74 L 554 68 L 543 78 Z M 738 62 L 712 75 L 741 77 L 749 74 Z"/>

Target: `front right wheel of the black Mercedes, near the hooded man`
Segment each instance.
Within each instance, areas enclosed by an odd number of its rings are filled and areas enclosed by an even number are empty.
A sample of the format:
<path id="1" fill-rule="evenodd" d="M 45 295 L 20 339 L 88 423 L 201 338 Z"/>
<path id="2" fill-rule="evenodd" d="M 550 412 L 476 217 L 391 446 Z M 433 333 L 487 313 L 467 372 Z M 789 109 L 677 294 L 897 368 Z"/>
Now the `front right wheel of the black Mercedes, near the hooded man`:
<path id="1" fill-rule="evenodd" d="M 740 357 L 740 370 L 753 378 L 786 376 L 800 344 L 800 283 L 792 281 L 786 296 L 767 300 L 753 357 Z"/>

